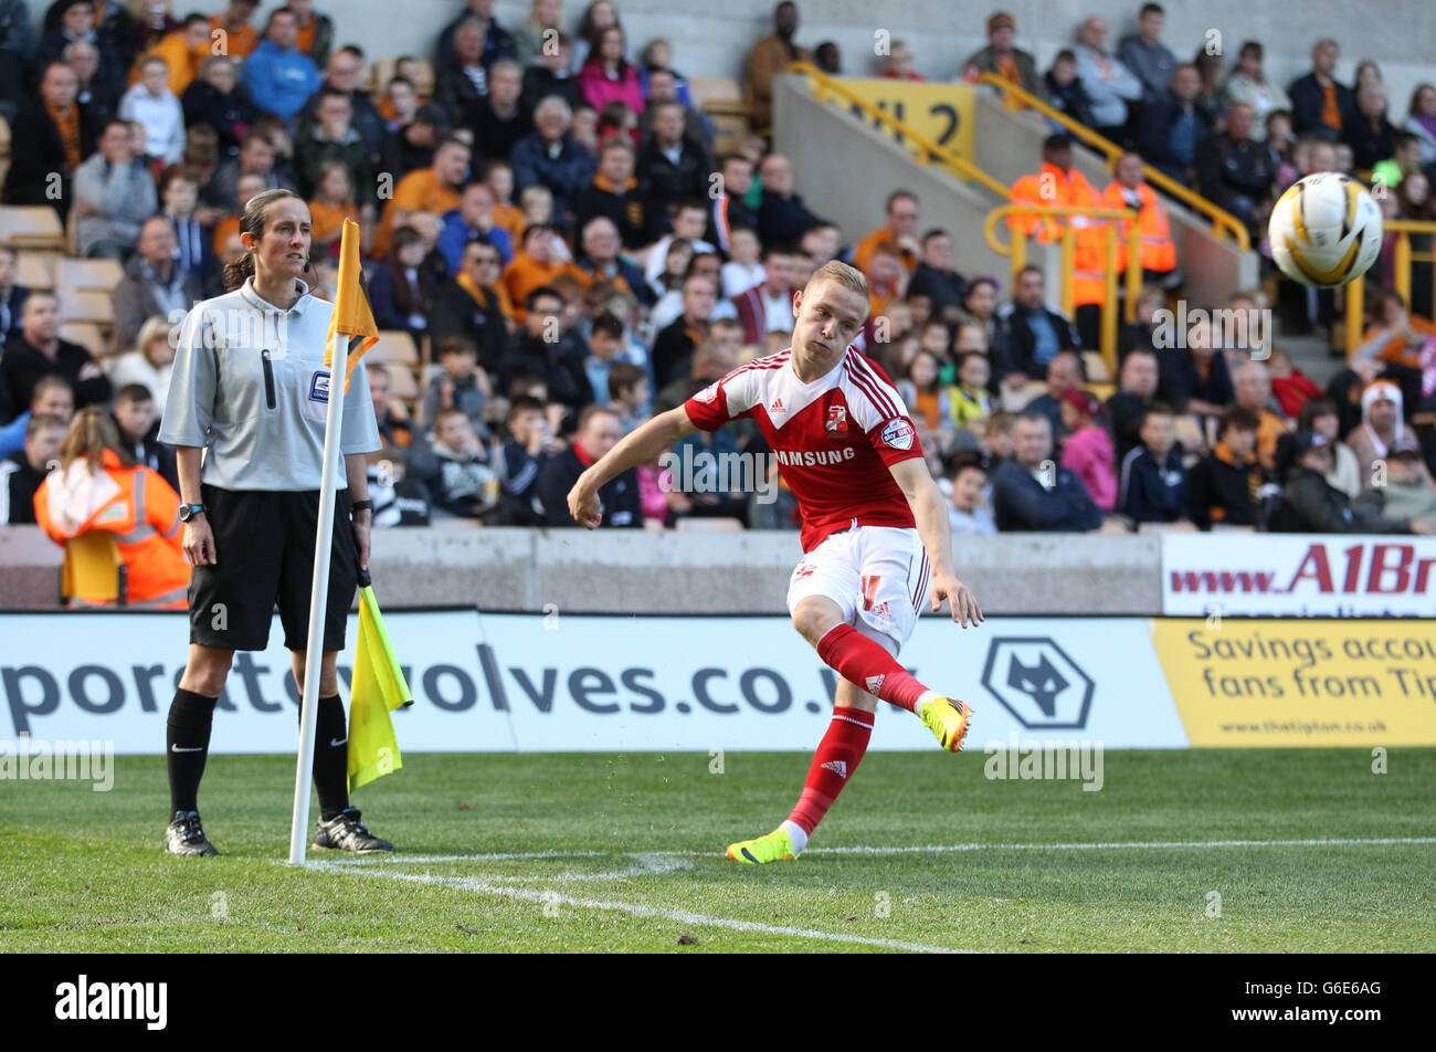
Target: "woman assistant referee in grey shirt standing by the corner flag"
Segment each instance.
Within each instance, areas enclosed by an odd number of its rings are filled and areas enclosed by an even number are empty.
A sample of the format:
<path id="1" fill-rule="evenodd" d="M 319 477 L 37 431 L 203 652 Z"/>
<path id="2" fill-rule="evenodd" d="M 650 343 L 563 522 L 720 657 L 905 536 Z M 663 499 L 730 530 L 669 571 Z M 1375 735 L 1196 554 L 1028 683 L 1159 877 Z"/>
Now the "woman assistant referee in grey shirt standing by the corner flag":
<path id="1" fill-rule="evenodd" d="M 165 757 L 171 822 L 165 851 L 217 855 L 197 796 L 214 706 L 237 650 L 264 650 L 274 606 L 303 690 L 319 523 L 325 418 L 333 389 L 325 338 L 333 306 L 309 295 L 310 216 L 303 198 L 266 190 L 240 220 L 244 256 L 225 267 L 233 292 L 198 303 L 180 328 L 159 440 L 180 467 L 190 578 L 190 658 L 169 706 Z M 342 387 L 339 388 L 343 389 Z M 369 563 L 365 454 L 379 430 L 363 364 L 345 397 L 343 473 L 335 502 L 319 673 L 316 848 L 392 851 L 349 806 L 348 730 L 335 661 L 360 568 Z M 348 487 L 348 489 L 346 489 Z"/>

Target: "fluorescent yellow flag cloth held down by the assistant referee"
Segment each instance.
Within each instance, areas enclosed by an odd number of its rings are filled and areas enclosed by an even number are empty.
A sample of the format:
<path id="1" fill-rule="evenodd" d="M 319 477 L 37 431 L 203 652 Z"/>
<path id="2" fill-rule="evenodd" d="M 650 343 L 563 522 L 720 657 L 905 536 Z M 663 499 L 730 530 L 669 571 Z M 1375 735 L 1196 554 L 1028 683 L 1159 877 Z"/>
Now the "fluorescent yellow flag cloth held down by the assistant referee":
<path id="1" fill-rule="evenodd" d="M 389 713 L 414 701 L 383 628 L 373 586 L 359 592 L 359 642 L 349 684 L 349 790 L 404 766 Z"/>

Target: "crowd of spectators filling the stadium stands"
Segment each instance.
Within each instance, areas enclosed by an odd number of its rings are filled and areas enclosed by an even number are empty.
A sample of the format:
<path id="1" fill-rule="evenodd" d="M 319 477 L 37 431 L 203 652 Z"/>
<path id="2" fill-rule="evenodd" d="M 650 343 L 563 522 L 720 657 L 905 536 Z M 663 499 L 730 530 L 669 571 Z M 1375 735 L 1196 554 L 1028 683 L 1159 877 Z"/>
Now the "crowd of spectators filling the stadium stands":
<path id="1" fill-rule="evenodd" d="M 989 45 L 954 63 L 955 78 L 995 73 L 1130 151 L 1093 187 L 1071 138 L 1053 134 L 1012 187 L 1014 201 L 1040 200 L 1050 181 L 1048 203 L 1139 213 L 1116 260 L 1094 226 L 1078 231 L 1066 318 L 1045 306 L 1037 267 L 1012 289 L 962 273 L 962 246 L 925 226 L 902 188 L 872 231 L 808 208 L 803 172 L 770 148 L 773 76 L 793 60 L 831 73 L 843 63 L 831 42 L 798 45 L 793 3 L 752 45 L 751 129 L 721 155 L 682 56 L 662 39 L 639 47 L 609 0 L 582 14 L 534 0 L 511 26 L 493 0 L 455 3 L 432 55 L 383 56 L 373 91 L 372 59 L 343 43 L 337 6 L 290 0 L 263 20 L 257 6 L 181 17 L 162 0 L 56 0 L 36 39 L 26 4 L 0 0 L 0 114 L 14 144 L 3 203 L 53 208 L 75 256 L 119 266 L 111 332 L 85 346 L 66 338 L 63 296 L 23 287 L 17 252 L 0 247 L 0 522 L 59 507 L 46 480 L 59 492 L 76 458 L 175 484 L 174 454 L 155 441 L 175 326 L 224 292 L 244 204 L 287 187 L 313 217 L 313 292 L 333 296 L 352 218 L 378 325 L 412 341 L 412 352 L 368 359 L 385 443 L 370 467 L 381 527 L 574 526 L 564 494 L 586 464 L 652 412 L 787 346 L 793 292 L 843 259 L 872 289 L 859 348 L 898 384 L 955 530 L 1433 529 L 1436 450 L 1412 425 L 1436 408 L 1429 273 L 1413 282 L 1416 303 L 1389 287 L 1370 297 L 1361 348 L 1325 389 L 1269 339 L 1255 352 L 1208 319 L 1176 341 L 1159 333 L 1182 260 L 1142 162 L 1238 216 L 1254 243 L 1279 193 L 1315 171 L 1387 191 L 1387 216 L 1433 217 L 1436 88 L 1417 88 L 1397 125 L 1376 63 L 1354 88 L 1334 79 L 1333 40 L 1282 89 L 1255 40 L 1231 70 L 1205 49 L 1179 60 L 1157 4 L 1116 49 L 1106 22 L 1087 19 L 1045 73 L 1017 47 L 1011 16 L 987 20 Z M 882 75 L 920 79 L 912 49 L 895 40 Z M 1060 236 L 1050 220 L 1020 226 Z M 1099 398 L 1084 352 L 1097 345 L 1106 267 L 1129 264 L 1143 270 L 1137 319 Z M 1391 266 L 1387 252 L 1387 286 Z M 1254 289 L 1208 306 L 1271 303 Z M 1330 326 L 1328 293 L 1301 306 L 1307 323 Z M 113 427 L 76 415 L 89 407 Z M 85 434 L 66 441 L 72 420 Z M 685 441 L 763 454 L 750 424 Z M 684 490 L 653 463 L 610 483 L 606 522 L 796 526 L 775 463 L 757 463 L 775 476 L 775 502 Z"/>

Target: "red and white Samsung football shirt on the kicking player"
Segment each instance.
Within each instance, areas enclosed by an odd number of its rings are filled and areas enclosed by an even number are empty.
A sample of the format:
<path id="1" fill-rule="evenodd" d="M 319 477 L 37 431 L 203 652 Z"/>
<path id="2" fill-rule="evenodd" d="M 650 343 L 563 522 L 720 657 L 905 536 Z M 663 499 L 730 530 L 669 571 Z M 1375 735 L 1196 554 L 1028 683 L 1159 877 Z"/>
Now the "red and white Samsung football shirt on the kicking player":
<path id="1" fill-rule="evenodd" d="M 793 348 L 755 358 L 685 402 L 704 431 L 752 417 L 803 512 L 803 550 L 854 526 L 915 526 L 890 464 L 922 456 L 918 430 L 887 375 L 852 346 L 804 384 Z"/>

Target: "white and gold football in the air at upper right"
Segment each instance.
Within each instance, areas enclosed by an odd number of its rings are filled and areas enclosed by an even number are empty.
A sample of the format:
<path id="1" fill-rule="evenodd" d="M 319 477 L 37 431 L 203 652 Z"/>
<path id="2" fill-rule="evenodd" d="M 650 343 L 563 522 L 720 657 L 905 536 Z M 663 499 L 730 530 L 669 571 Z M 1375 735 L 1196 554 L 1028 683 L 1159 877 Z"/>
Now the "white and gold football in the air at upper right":
<path id="1" fill-rule="evenodd" d="M 1271 210 L 1271 256 L 1294 282 L 1334 289 L 1366 273 L 1381 252 L 1381 210 L 1341 172 L 1294 183 Z"/>

